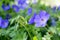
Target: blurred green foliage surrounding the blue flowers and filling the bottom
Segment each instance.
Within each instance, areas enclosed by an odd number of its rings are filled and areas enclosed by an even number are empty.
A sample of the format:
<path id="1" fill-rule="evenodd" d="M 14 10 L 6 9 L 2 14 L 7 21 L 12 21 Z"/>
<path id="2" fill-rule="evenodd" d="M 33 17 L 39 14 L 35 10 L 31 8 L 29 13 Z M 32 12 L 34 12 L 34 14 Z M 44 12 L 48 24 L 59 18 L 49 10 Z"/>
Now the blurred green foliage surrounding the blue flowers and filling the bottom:
<path id="1" fill-rule="evenodd" d="M 47 25 L 44 28 L 36 28 L 34 24 L 28 24 L 28 20 L 31 15 L 28 16 L 26 14 L 27 9 L 24 11 L 21 10 L 17 14 L 12 9 L 3 11 L 1 5 L 4 1 L 5 3 L 10 3 L 10 0 L 0 1 L 0 16 L 4 18 L 8 13 L 11 14 L 12 18 L 9 20 L 10 24 L 8 28 L 0 28 L 0 40 L 33 40 L 34 36 L 36 36 L 38 40 L 42 40 L 42 38 L 45 38 L 46 40 L 60 40 L 60 20 L 56 22 L 56 26 Z M 60 19 L 59 11 L 57 11 L 57 13 L 53 13 L 50 6 L 46 7 L 45 5 L 37 4 L 31 5 L 31 7 L 33 8 L 33 13 L 38 13 L 40 10 L 46 10 L 51 17 L 57 17 L 58 19 Z"/>

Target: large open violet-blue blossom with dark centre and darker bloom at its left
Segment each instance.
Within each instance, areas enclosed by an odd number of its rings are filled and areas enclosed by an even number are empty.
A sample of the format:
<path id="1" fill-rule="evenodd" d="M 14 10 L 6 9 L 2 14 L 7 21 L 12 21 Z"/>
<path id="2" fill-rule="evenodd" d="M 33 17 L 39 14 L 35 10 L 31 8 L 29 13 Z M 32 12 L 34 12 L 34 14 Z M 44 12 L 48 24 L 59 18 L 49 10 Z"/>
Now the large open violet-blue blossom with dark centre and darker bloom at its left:
<path id="1" fill-rule="evenodd" d="M 45 27 L 50 15 L 46 11 L 40 11 L 39 14 L 30 18 L 29 22 L 35 23 L 36 27 Z"/>

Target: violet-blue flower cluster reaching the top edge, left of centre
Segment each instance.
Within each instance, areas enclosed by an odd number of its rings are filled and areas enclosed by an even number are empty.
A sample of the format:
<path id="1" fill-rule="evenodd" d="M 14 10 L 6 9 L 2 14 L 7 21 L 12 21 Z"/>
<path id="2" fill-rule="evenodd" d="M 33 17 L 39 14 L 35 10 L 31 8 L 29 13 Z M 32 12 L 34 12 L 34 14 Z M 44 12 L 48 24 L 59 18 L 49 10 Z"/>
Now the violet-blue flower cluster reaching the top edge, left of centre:
<path id="1" fill-rule="evenodd" d="M 15 12 L 19 12 L 21 9 L 24 10 L 28 7 L 28 3 L 26 1 L 27 0 L 15 0 L 17 4 L 13 4 L 12 8 Z"/>

